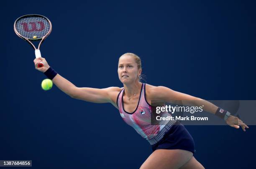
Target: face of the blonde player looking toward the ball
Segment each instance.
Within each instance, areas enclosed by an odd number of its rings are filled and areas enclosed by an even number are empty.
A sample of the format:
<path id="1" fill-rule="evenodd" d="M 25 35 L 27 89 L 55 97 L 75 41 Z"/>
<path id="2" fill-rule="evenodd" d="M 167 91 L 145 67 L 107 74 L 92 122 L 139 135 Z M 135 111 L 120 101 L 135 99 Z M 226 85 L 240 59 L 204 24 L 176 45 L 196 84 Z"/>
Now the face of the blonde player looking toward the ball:
<path id="1" fill-rule="evenodd" d="M 118 62 L 118 77 L 124 84 L 130 84 L 138 81 L 141 75 L 141 69 L 138 69 L 137 63 L 132 56 L 124 55 Z"/>

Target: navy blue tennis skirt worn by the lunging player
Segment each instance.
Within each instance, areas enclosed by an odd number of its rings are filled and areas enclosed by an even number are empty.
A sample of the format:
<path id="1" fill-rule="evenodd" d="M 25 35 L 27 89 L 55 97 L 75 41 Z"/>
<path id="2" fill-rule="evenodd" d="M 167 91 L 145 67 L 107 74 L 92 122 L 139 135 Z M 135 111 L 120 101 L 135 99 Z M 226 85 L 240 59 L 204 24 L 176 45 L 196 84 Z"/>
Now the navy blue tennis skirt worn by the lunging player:
<path id="1" fill-rule="evenodd" d="M 152 145 L 152 150 L 157 149 L 182 149 L 195 153 L 195 143 L 187 129 L 179 121 L 166 131 L 164 137 Z"/>

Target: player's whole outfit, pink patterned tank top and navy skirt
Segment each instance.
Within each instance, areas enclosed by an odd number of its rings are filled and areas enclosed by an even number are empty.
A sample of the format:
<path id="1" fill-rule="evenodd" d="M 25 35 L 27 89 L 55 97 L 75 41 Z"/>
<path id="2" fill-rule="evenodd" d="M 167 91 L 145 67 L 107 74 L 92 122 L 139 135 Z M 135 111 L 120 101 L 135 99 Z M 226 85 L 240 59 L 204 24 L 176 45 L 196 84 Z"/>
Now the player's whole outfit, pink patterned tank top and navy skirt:
<path id="1" fill-rule="evenodd" d="M 123 94 L 124 88 L 117 97 L 120 116 L 151 144 L 153 151 L 157 149 L 182 149 L 195 153 L 194 140 L 179 121 L 165 121 L 161 125 L 151 124 L 152 106 L 146 101 L 146 83 L 141 85 L 138 105 L 132 113 L 125 111 L 123 107 Z M 168 115 L 170 116 L 170 114 Z"/>

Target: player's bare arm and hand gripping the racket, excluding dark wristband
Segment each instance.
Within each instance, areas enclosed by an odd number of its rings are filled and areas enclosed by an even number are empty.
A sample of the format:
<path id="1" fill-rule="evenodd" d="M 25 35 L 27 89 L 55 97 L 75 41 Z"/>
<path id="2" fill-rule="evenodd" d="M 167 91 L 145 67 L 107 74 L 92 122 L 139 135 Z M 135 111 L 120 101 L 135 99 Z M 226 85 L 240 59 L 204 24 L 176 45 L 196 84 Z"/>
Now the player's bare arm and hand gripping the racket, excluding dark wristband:
<path id="1" fill-rule="evenodd" d="M 37 64 L 43 62 L 44 67 L 38 68 Z M 44 58 L 34 60 L 35 68 L 38 71 L 45 72 L 50 67 Z M 112 103 L 116 107 L 116 97 L 121 90 L 118 87 L 109 88 L 79 88 L 73 83 L 57 74 L 52 82 L 64 93 L 79 100 L 90 101 L 93 103 Z"/>

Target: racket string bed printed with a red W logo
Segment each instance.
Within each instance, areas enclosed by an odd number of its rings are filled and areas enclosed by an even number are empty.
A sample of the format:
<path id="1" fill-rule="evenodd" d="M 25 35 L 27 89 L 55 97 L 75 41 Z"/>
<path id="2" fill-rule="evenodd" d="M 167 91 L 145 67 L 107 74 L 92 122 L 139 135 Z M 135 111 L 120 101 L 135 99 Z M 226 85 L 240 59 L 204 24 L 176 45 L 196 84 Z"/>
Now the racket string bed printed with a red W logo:
<path id="1" fill-rule="evenodd" d="M 36 39 L 41 39 L 49 32 L 51 25 L 46 18 L 30 16 L 18 20 L 15 28 L 23 38 L 34 39 L 36 36 Z"/>

